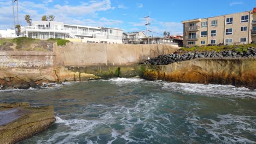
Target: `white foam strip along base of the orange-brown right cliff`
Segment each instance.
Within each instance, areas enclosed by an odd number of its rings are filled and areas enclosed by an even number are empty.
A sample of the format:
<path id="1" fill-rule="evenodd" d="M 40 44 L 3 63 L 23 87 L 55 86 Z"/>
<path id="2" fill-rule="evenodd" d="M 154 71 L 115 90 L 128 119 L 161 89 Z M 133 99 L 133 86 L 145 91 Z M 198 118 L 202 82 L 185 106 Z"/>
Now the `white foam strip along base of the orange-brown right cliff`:
<path id="1" fill-rule="evenodd" d="M 162 82 L 164 89 L 170 89 L 187 94 L 200 94 L 207 96 L 229 96 L 236 98 L 256 99 L 256 89 L 251 90 L 244 87 L 224 86 L 224 85 L 203 85 L 195 83 Z"/>

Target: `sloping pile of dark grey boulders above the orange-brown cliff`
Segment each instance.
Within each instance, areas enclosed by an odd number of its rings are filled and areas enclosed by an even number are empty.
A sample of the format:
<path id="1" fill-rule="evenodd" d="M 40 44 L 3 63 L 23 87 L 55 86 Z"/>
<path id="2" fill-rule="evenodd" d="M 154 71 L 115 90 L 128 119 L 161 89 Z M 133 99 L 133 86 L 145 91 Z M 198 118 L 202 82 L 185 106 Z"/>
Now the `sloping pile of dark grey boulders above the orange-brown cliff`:
<path id="1" fill-rule="evenodd" d="M 148 65 L 167 65 L 175 62 L 189 61 L 195 58 L 240 58 L 240 57 L 256 57 L 256 48 L 249 47 L 248 51 L 240 52 L 237 50 L 226 50 L 226 51 L 205 51 L 205 52 L 187 52 L 183 55 L 176 53 L 169 55 L 161 55 L 156 58 L 148 59 L 140 64 Z"/>

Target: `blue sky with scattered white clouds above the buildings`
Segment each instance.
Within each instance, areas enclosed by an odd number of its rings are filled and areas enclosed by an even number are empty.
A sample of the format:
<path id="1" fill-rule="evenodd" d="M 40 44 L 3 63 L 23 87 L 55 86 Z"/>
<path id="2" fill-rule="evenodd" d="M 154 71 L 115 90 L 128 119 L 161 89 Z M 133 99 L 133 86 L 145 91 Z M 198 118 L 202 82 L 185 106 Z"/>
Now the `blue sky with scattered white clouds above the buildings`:
<path id="1" fill-rule="evenodd" d="M 0 0 L 0 29 L 13 28 L 12 0 Z M 256 7 L 256 0 L 171 1 L 171 0 L 19 0 L 19 21 L 26 14 L 32 21 L 54 15 L 55 21 L 67 24 L 114 27 L 124 32 L 146 30 L 145 16 L 150 16 L 150 35 L 170 32 L 183 34 L 181 21 L 239 13 Z M 16 3 L 15 3 L 16 16 Z M 17 19 L 17 18 L 15 18 Z"/>

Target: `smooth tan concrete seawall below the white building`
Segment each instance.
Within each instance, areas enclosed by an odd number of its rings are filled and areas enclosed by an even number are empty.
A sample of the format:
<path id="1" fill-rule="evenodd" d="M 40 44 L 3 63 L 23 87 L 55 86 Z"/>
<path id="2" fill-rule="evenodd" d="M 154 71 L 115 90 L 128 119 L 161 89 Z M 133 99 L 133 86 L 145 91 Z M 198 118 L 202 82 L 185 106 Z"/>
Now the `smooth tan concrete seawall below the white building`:
<path id="1" fill-rule="evenodd" d="M 91 65 L 133 65 L 179 49 L 172 45 L 125 45 L 68 43 L 54 45 L 56 65 L 91 66 Z"/>

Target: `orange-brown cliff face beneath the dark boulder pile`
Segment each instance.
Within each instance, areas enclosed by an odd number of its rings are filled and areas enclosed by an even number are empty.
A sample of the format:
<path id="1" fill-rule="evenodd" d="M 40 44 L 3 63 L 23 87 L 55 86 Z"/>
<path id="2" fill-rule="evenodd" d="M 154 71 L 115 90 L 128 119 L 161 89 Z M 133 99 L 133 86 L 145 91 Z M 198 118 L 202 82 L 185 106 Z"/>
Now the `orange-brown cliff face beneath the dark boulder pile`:
<path id="1" fill-rule="evenodd" d="M 203 58 L 141 67 L 148 80 L 256 88 L 256 58 Z"/>

